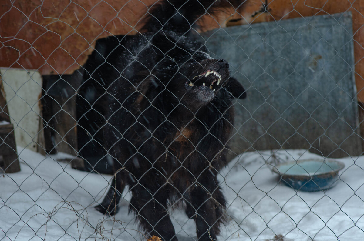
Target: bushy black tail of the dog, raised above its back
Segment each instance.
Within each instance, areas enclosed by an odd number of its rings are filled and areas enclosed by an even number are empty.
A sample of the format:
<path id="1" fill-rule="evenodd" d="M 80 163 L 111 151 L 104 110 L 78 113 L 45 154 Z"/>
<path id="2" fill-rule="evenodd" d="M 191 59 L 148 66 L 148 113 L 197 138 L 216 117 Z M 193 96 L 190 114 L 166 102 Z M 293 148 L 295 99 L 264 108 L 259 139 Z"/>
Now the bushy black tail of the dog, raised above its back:
<path id="1" fill-rule="evenodd" d="M 143 30 L 154 32 L 159 29 L 185 33 L 206 13 L 216 9 L 238 8 L 247 0 L 161 0 L 157 1 L 145 18 Z"/>

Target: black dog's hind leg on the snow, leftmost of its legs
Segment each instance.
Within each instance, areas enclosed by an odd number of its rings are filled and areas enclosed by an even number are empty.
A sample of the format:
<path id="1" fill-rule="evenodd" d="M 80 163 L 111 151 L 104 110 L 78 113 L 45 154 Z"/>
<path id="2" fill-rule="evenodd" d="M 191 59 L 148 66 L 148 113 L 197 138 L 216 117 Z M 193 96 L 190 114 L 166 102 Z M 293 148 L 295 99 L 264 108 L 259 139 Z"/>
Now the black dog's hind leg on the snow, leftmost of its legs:
<path id="1" fill-rule="evenodd" d="M 106 197 L 100 205 L 96 206 L 96 210 L 103 214 L 115 215 L 119 211 L 119 201 L 121 194 L 125 188 L 125 180 L 123 178 L 124 172 L 122 170 L 117 171 L 114 174 L 114 178 L 111 181 L 111 187 L 109 188 Z"/>

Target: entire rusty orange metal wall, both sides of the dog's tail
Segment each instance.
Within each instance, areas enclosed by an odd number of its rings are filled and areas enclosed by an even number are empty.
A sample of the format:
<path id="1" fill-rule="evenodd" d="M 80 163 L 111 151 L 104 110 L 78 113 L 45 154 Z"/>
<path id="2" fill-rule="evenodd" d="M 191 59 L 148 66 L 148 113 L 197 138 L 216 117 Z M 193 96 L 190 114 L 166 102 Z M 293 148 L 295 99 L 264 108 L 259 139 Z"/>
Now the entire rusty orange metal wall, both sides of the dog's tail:
<path id="1" fill-rule="evenodd" d="M 134 34 L 156 0 L 0 0 L 0 66 L 37 69 L 41 74 L 71 74 L 86 62 L 99 38 Z M 200 21 L 202 31 L 235 24 L 279 21 L 301 16 L 351 11 L 358 99 L 364 102 L 364 0 L 269 0 L 268 13 L 254 13 L 265 1 L 250 0 L 245 9 L 221 11 Z"/>

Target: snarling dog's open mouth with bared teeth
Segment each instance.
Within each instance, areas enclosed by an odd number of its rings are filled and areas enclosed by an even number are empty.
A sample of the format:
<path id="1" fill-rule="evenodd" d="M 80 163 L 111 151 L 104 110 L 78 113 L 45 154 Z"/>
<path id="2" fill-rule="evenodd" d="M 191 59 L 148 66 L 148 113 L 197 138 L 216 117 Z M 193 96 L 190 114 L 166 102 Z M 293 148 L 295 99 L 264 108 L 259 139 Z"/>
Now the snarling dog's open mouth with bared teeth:
<path id="1" fill-rule="evenodd" d="M 221 84 L 221 74 L 214 70 L 207 70 L 199 75 L 194 76 L 188 84 L 190 87 L 194 86 L 207 86 L 215 91 Z"/>

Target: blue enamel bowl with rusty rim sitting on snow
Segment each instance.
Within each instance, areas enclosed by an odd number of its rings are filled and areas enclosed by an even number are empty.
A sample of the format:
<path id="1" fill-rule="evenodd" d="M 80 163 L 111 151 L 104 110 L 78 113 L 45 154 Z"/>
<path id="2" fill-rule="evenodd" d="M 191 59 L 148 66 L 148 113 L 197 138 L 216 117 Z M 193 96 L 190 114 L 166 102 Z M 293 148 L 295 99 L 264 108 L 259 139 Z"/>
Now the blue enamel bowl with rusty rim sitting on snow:
<path id="1" fill-rule="evenodd" d="M 334 187 L 344 163 L 335 160 L 306 159 L 281 163 L 273 171 L 281 183 L 300 191 L 322 191 Z"/>

